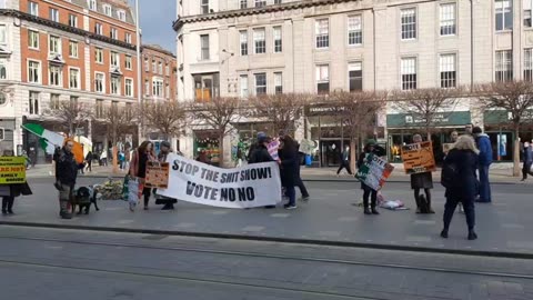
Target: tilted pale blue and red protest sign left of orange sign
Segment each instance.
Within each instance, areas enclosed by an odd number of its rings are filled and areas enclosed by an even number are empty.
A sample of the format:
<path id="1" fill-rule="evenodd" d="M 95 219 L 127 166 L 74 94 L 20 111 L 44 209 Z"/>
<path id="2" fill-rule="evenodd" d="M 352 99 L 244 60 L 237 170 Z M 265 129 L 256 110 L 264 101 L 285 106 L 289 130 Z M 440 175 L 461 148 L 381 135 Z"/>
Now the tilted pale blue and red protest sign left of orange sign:
<path id="1" fill-rule="evenodd" d="M 374 191 L 378 191 L 383 188 L 393 170 L 394 167 L 386 162 L 386 160 L 381 159 L 376 154 L 368 153 L 355 178 Z"/>

